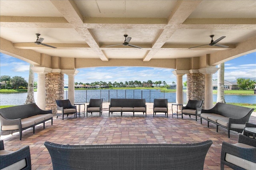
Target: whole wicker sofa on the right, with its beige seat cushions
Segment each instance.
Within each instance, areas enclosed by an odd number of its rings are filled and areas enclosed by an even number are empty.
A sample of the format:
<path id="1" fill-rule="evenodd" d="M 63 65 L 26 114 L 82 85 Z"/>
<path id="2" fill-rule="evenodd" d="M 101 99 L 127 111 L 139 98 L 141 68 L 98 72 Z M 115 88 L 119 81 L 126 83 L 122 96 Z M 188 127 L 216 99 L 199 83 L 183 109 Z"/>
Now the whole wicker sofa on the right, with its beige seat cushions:
<path id="1" fill-rule="evenodd" d="M 218 126 L 228 129 L 228 138 L 230 138 L 230 130 L 242 133 L 246 122 L 249 121 L 250 115 L 254 109 L 242 106 L 235 106 L 231 104 L 216 103 L 212 109 L 202 109 L 200 119 L 216 124 L 216 131 Z"/>

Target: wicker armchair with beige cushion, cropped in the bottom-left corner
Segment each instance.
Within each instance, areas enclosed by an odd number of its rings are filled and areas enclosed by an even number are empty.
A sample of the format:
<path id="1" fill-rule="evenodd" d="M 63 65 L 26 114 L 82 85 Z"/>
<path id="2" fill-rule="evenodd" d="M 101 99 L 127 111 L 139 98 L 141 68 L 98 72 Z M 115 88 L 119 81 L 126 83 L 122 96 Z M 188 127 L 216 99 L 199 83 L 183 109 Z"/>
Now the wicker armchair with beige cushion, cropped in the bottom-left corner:
<path id="1" fill-rule="evenodd" d="M 4 141 L 0 140 L 0 169 L 31 170 L 31 158 L 29 146 L 16 151 L 4 149 Z"/>

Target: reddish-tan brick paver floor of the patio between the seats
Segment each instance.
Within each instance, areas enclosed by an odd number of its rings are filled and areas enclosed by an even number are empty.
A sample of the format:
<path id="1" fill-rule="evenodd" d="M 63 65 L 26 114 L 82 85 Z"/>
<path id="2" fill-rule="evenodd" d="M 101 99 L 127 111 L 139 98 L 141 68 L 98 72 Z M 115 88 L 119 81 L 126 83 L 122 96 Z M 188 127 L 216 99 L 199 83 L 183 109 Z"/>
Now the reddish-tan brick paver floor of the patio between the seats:
<path id="1" fill-rule="evenodd" d="M 87 104 L 86 104 L 87 105 Z M 54 116 L 53 125 L 46 122 L 36 126 L 36 133 L 33 135 L 32 129 L 23 131 L 22 141 L 19 134 L 1 136 L 4 139 L 5 149 L 17 150 L 24 145 L 30 146 L 31 162 L 33 170 L 51 170 L 52 161 L 48 150 L 44 146 L 45 141 L 58 144 L 70 145 L 100 145 L 100 144 L 134 144 L 134 143 L 198 143 L 212 140 L 213 144 L 208 150 L 204 162 L 205 170 L 220 169 L 220 152 L 222 141 L 237 143 L 239 133 L 231 131 L 230 139 L 226 129 L 219 127 L 216 133 L 216 125 L 210 123 L 207 128 L 207 121 L 200 118 L 195 121 L 195 117 L 181 115 L 172 117 L 171 104 L 168 104 L 168 118 L 164 113 L 156 113 L 153 117 L 153 104 L 147 103 L 147 117 L 143 113 L 124 112 L 110 114 L 108 117 L 108 105 L 103 104 L 103 113 L 99 117 L 98 113 L 88 114 L 88 117 L 68 118 Z M 83 108 L 81 108 L 83 110 Z M 175 109 L 175 108 L 174 108 Z M 249 122 L 256 124 L 256 113 L 253 113 Z M 78 158 L 87 159 L 87 158 Z M 178 161 L 178 160 L 173 160 Z M 227 168 L 229 169 L 229 168 Z"/>

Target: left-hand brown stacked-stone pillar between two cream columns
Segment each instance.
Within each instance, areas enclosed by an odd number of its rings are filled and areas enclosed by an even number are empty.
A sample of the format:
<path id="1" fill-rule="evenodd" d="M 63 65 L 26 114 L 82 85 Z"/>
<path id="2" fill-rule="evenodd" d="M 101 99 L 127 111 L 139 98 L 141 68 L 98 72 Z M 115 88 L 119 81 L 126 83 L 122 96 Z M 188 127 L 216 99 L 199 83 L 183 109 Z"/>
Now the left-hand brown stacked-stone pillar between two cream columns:
<path id="1" fill-rule="evenodd" d="M 53 72 L 46 74 L 46 109 L 57 112 L 55 100 L 64 99 L 64 74 L 60 69 L 53 69 Z"/>

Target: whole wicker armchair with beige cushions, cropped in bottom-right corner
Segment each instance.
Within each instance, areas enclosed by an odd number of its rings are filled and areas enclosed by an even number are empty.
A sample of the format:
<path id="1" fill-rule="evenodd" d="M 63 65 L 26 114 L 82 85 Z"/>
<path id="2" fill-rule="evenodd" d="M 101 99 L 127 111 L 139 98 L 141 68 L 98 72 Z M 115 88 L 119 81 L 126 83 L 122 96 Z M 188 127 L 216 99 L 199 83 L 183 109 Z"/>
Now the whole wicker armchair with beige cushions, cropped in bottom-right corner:
<path id="1" fill-rule="evenodd" d="M 239 135 L 238 143 L 232 145 L 222 142 L 220 169 L 224 165 L 234 170 L 256 169 L 256 140 Z"/>

